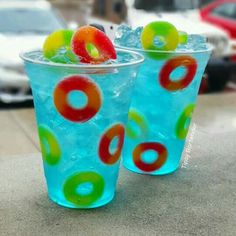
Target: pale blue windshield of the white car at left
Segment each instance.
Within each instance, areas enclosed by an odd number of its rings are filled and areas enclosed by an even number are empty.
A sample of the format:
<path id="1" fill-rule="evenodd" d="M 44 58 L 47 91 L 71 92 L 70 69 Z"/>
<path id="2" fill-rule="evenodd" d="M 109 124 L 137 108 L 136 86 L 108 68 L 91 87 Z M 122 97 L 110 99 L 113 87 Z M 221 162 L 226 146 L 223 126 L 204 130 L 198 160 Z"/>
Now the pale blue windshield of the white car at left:
<path id="1" fill-rule="evenodd" d="M 4 19 L 0 21 L 0 33 L 47 34 L 65 27 L 50 9 L 2 8 L 0 19 Z"/>

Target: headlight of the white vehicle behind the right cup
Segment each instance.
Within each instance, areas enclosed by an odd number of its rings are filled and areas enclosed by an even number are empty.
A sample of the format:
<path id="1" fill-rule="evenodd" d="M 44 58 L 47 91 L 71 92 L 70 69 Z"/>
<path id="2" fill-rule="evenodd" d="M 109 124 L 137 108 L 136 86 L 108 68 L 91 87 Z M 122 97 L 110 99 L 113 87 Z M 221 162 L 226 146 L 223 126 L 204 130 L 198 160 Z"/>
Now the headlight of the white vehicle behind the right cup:
<path id="1" fill-rule="evenodd" d="M 207 36 L 207 41 L 213 45 L 213 56 L 224 56 L 228 53 L 229 41 L 223 36 Z"/>

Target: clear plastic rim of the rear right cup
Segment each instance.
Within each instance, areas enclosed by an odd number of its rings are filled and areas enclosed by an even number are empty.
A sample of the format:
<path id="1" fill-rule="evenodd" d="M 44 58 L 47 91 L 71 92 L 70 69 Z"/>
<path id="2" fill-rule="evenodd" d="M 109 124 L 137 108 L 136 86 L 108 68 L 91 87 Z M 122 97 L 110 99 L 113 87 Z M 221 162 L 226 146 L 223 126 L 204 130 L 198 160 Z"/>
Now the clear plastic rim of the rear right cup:
<path id="1" fill-rule="evenodd" d="M 161 51 L 161 50 L 147 50 L 147 49 L 143 49 L 143 48 L 133 48 L 133 47 L 125 47 L 119 44 L 114 43 L 114 46 L 116 48 L 119 48 L 121 50 L 129 50 L 129 51 L 134 51 L 134 52 L 138 52 L 138 53 L 160 53 L 160 54 L 176 54 L 176 55 L 180 55 L 180 54 L 199 54 L 199 53 L 206 53 L 206 52 L 212 52 L 214 50 L 214 46 L 210 43 L 206 43 L 207 45 L 207 49 L 201 49 L 201 50 L 187 50 L 187 51 Z"/>

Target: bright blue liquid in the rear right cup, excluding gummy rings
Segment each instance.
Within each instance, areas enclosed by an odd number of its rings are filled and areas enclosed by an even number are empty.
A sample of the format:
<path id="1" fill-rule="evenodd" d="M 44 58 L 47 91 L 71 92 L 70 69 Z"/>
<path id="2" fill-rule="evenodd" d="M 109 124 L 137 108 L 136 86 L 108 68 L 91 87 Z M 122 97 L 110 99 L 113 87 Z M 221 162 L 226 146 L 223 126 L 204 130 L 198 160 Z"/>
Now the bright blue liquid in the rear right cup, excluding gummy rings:
<path id="1" fill-rule="evenodd" d="M 194 79 L 186 88 L 173 92 L 161 86 L 159 77 L 163 65 L 169 59 L 176 56 L 180 56 L 180 54 L 171 55 L 168 59 L 155 60 L 146 55 L 145 62 L 139 70 L 135 90 L 132 95 L 131 110 L 138 112 L 145 118 L 147 129 L 144 132 L 137 123 L 134 125 L 134 121 L 129 120 L 128 124 L 137 134 L 137 137 L 131 137 L 126 132 L 122 156 L 124 166 L 131 171 L 163 175 L 175 171 L 179 166 L 185 139 L 177 137 L 176 124 L 183 110 L 189 104 L 196 103 L 202 75 L 210 57 L 210 51 L 189 54 L 189 56 L 195 58 L 198 65 Z M 183 77 L 185 73 L 186 68 L 179 66 L 173 70 L 170 78 L 172 81 L 175 81 Z M 185 126 L 188 127 L 188 124 L 189 120 L 186 120 Z M 142 135 L 142 133 L 145 134 Z M 137 145 L 149 142 L 161 143 L 167 150 L 166 161 L 154 171 L 144 171 L 134 161 L 133 152 Z M 140 159 L 146 164 L 154 163 L 159 157 L 158 153 L 153 150 L 147 150 L 140 154 Z"/>

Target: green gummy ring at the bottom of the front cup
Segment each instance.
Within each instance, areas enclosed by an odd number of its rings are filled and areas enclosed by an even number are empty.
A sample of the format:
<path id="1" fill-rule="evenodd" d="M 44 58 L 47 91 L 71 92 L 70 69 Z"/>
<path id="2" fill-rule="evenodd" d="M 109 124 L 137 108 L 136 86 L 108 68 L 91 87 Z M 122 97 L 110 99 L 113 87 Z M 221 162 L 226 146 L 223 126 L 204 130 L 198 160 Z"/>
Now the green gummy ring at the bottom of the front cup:
<path id="1" fill-rule="evenodd" d="M 93 186 L 92 191 L 88 194 L 81 194 L 77 191 L 78 186 L 84 183 L 91 183 Z M 87 171 L 70 176 L 64 183 L 63 192 L 67 201 L 76 206 L 86 207 L 102 196 L 104 187 L 105 181 L 100 174 Z"/>

